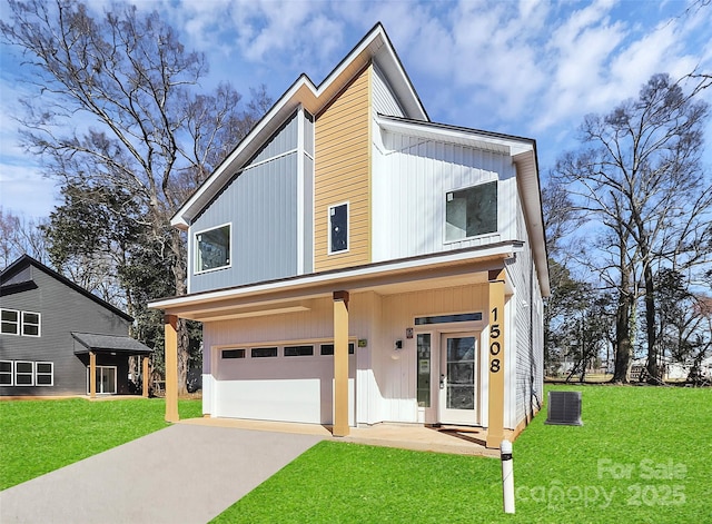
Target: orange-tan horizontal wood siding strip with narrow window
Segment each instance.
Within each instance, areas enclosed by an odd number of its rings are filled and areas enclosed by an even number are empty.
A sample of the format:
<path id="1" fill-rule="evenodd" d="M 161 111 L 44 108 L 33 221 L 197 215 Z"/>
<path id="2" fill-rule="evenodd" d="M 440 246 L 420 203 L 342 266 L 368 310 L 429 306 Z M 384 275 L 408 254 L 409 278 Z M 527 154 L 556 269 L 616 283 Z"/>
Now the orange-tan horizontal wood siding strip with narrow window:
<path id="1" fill-rule="evenodd" d="M 316 119 L 316 271 L 370 261 L 370 75 L 364 69 Z M 329 255 L 328 208 L 349 204 L 348 251 Z"/>

